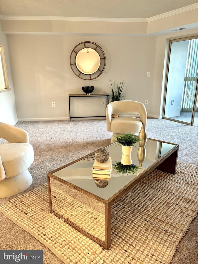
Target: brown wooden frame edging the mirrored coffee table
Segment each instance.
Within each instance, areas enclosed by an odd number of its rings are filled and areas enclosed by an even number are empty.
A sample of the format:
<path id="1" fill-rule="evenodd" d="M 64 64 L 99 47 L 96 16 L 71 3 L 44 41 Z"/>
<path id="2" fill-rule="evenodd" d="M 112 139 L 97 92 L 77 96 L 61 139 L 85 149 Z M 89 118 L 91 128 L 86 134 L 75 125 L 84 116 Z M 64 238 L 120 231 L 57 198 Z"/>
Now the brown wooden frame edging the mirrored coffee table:
<path id="1" fill-rule="evenodd" d="M 158 141 L 158 140 L 154 140 L 154 139 L 150 139 L 150 140 Z M 168 151 L 165 155 L 158 158 L 158 160 L 156 162 L 154 162 L 151 166 L 149 166 L 147 169 L 145 169 L 143 172 L 141 172 L 140 175 L 137 176 L 138 178 L 131 180 L 130 183 L 125 185 L 122 189 L 120 189 L 116 194 L 114 194 L 108 200 L 102 199 L 101 197 L 98 197 L 97 195 L 94 195 L 93 193 L 85 191 L 84 189 L 82 189 L 82 188 L 80 188 L 74 184 L 71 184 L 71 183 L 67 182 L 66 180 L 62 180 L 62 179 L 58 178 L 57 176 L 53 175 L 53 173 L 55 173 L 56 171 L 59 171 L 59 170 L 65 168 L 67 166 L 70 166 L 71 164 L 73 164 L 75 162 L 78 162 L 84 158 L 87 158 L 88 156 L 93 155 L 95 152 L 88 154 L 82 158 L 79 158 L 73 162 L 70 162 L 67 165 L 64 165 L 64 166 L 62 166 L 62 167 L 60 167 L 54 171 L 47 173 L 48 193 L 49 193 L 49 210 L 50 210 L 50 212 L 53 213 L 54 215 L 56 215 L 57 217 L 64 219 L 64 221 L 66 223 L 68 223 L 69 225 L 71 225 L 72 227 L 74 227 L 75 229 L 80 231 L 83 235 L 87 236 L 91 240 L 95 241 L 97 244 L 101 245 L 105 249 L 109 249 L 110 245 L 111 245 L 111 206 L 119 198 L 121 198 L 125 193 L 127 193 L 134 185 L 136 185 L 140 180 L 142 180 L 146 175 L 148 175 L 150 172 L 152 172 L 154 169 L 165 171 L 165 172 L 168 172 L 171 174 L 175 174 L 175 172 L 176 172 L 179 145 L 169 143 L 169 142 L 165 142 L 165 141 L 158 141 L 158 142 L 172 144 L 172 145 L 174 145 L 174 147 L 170 151 Z M 74 223 L 70 222 L 68 219 L 62 217 L 57 212 L 53 211 L 52 199 L 51 199 L 50 178 L 53 178 L 54 180 L 57 180 L 57 181 L 61 182 L 62 184 L 65 184 L 67 186 L 70 186 L 71 188 L 74 188 L 74 189 L 78 190 L 79 192 L 84 193 L 87 196 L 92 197 L 93 199 L 100 201 L 101 203 L 103 203 L 105 205 L 105 242 L 98 240 L 97 238 L 95 238 L 91 234 L 89 234 L 88 232 L 82 230 L 80 227 L 77 227 Z"/>

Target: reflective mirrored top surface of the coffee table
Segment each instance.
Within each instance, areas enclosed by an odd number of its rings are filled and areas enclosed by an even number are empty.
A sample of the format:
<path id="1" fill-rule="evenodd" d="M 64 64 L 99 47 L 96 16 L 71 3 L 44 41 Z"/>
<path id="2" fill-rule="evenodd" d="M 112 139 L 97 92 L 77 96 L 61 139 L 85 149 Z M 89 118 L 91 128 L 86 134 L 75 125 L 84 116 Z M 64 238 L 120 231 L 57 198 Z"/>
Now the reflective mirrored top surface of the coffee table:
<path id="1" fill-rule="evenodd" d="M 78 186 L 90 193 L 93 193 L 94 195 L 101 197 L 102 199 L 108 200 L 121 188 L 127 185 L 131 180 L 140 175 L 145 169 L 149 168 L 149 166 L 156 162 L 157 159 L 161 157 L 161 155 L 166 154 L 174 146 L 174 144 L 148 139 L 144 149 L 144 161 L 141 162 L 140 169 L 136 171 L 134 175 L 120 175 L 117 173 L 117 171 L 112 169 L 109 184 L 105 188 L 98 188 L 92 178 L 92 167 L 94 162 L 93 159 L 82 159 L 69 165 L 68 167 L 64 167 L 59 171 L 54 172 L 53 175 L 56 175 L 62 180 L 74 184 L 75 186 Z M 113 159 L 113 164 L 115 164 L 115 162 L 121 161 L 122 149 L 120 145 L 117 145 L 115 143 L 106 147 L 106 149 L 109 151 L 109 156 Z M 137 166 L 140 165 L 140 162 L 138 160 L 138 150 L 139 144 L 136 143 L 132 148 L 131 157 L 132 163 Z"/>

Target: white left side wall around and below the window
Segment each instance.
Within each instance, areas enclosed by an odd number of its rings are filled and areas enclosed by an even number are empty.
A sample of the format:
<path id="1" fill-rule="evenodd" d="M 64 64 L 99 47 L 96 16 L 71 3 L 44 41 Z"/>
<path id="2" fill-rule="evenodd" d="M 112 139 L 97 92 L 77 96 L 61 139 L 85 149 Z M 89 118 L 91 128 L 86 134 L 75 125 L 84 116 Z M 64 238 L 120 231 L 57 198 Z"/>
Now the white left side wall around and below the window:
<path id="1" fill-rule="evenodd" d="M 15 93 L 12 83 L 7 37 L 6 34 L 3 33 L 1 30 L 1 20 L 0 20 L 0 45 L 4 47 L 8 84 L 9 84 L 9 88 L 11 88 L 11 90 L 9 91 L 0 93 L 0 122 L 14 125 L 15 123 L 18 122 L 16 106 L 15 106 Z"/>

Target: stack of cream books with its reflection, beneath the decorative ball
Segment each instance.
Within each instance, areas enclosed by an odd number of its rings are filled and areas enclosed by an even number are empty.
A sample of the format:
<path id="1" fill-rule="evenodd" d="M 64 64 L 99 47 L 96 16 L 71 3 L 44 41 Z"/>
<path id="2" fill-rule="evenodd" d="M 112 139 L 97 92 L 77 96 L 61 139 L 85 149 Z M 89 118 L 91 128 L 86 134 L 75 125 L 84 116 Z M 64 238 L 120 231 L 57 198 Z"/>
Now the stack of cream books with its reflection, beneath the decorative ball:
<path id="1" fill-rule="evenodd" d="M 103 163 L 95 160 L 93 163 L 92 178 L 95 180 L 109 180 L 111 178 L 112 162 L 111 157 Z"/>

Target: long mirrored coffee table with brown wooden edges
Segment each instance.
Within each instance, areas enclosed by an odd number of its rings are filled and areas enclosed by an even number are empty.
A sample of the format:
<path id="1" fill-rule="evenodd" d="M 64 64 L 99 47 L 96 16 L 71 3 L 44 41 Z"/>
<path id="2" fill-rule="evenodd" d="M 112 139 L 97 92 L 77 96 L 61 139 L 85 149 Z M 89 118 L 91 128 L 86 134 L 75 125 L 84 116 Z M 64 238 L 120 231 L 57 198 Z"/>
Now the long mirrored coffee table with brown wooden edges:
<path id="1" fill-rule="evenodd" d="M 114 143 L 105 147 L 115 162 L 122 149 Z M 145 147 L 136 143 L 132 163 L 140 166 L 135 174 L 120 175 L 112 169 L 106 187 L 92 178 L 94 154 L 47 173 L 49 209 L 82 234 L 105 249 L 111 245 L 111 206 L 154 169 L 175 174 L 179 145 L 147 139 Z M 100 183 L 100 181 L 99 181 Z"/>

